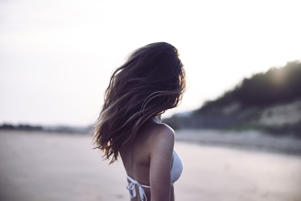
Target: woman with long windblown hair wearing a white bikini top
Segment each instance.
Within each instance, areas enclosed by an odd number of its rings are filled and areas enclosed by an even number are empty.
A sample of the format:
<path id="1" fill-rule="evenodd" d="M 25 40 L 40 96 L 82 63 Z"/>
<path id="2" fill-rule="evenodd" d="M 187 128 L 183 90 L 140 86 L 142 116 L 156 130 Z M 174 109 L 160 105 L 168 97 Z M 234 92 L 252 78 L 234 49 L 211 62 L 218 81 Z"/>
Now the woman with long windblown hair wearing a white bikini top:
<path id="1" fill-rule="evenodd" d="M 120 154 L 131 200 L 174 200 L 182 162 L 173 149 L 175 133 L 160 115 L 176 107 L 185 91 L 178 56 L 166 42 L 143 46 L 113 72 L 105 91 L 94 143 L 110 163 Z"/>

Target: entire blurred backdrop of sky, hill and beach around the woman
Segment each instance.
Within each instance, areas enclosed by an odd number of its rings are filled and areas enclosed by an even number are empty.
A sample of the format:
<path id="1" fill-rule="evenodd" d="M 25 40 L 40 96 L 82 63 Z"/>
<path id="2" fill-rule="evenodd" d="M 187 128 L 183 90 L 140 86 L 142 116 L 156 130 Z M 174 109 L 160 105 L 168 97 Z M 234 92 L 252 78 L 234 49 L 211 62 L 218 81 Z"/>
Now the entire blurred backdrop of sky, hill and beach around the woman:
<path id="1" fill-rule="evenodd" d="M 186 165 L 176 196 L 300 200 L 300 7 L 0 1 L 0 200 L 128 199 L 122 164 L 107 167 L 88 134 L 111 72 L 159 41 L 179 50 L 189 85 L 162 116 Z"/>

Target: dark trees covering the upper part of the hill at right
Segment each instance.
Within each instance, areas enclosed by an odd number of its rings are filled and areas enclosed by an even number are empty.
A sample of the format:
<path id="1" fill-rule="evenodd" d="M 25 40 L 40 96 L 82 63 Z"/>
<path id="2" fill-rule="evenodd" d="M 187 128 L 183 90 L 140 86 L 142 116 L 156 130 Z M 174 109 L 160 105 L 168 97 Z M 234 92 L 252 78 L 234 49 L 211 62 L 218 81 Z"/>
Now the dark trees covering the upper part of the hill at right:
<path id="1" fill-rule="evenodd" d="M 258 73 L 244 78 L 234 90 L 226 92 L 214 101 L 207 101 L 195 111 L 211 111 L 231 102 L 239 102 L 244 108 L 252 106 L 270 106 L 288 103 L 301 98 L 301 63 L 289 62 L 283 68 L 271 68 L 266 73 Z"/>

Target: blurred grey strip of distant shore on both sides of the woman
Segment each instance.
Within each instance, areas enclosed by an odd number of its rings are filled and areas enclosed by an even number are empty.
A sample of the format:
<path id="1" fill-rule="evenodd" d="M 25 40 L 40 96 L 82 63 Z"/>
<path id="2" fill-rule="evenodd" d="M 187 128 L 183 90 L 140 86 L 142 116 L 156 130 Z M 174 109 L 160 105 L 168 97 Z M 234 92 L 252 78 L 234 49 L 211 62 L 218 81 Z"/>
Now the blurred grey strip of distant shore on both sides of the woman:
<path id="1" fill-rule="evenodd" d="M 49 134 L 49 135 L 85 135 L 91 132 L 64 132 L 54 130 L 0 130 L 1 133 Z M 301 139 L 275 137 L 256 130 L 175 130 L 175 140 L 202 146 L 218 146 L 234 149 L 274 152 L 279 154 L 301 155 Z"/>

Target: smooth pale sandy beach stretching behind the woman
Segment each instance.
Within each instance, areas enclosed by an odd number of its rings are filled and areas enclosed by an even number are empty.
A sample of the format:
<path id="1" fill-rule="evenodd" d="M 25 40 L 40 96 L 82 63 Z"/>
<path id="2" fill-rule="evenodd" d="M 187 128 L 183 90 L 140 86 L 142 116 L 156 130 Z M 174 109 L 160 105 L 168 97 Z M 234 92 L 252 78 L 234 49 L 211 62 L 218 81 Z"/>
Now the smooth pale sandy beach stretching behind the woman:
<path id="1" fill-rule="evenodd" d="M 300 155 L 182 137 L 175 142 L 184 168 L 175 183 L 176 200 L 301 200 Z M 122 162 L 109 166 L 91 141 L 77 134 L 0 131 L 0 200 L 129 200 Z"/>

